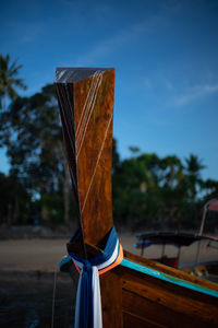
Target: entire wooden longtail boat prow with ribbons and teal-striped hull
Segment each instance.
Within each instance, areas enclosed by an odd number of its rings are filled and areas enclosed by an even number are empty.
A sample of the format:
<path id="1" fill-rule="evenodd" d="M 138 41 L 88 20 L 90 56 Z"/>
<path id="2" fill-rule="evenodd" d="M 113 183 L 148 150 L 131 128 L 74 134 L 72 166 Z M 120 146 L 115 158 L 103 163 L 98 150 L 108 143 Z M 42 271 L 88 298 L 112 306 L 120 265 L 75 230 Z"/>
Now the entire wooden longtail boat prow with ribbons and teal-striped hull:
<path id="1" fill-rule="evenodd" d="M 56 86 L 78 213 L 60 263 L 80 272 L 75 327 L 218 327 L 216 283 L 122 250 L 111 200 L 114 69 L 58 68 Z"/>

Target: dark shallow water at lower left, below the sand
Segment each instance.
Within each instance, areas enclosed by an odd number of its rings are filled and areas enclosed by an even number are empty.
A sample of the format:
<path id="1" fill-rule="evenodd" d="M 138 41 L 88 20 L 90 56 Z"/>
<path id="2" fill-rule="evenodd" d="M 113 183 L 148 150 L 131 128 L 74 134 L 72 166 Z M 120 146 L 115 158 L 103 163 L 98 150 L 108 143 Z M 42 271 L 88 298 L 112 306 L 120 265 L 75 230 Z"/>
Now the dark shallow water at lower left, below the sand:
<path id="1" fill-rule="evenodd" d="M 75 285 L 70 277 L 57 279 L 53 328 L 73 328 Z M 53 276 L 0 277 L 0 327 L 51 327 Z"/>

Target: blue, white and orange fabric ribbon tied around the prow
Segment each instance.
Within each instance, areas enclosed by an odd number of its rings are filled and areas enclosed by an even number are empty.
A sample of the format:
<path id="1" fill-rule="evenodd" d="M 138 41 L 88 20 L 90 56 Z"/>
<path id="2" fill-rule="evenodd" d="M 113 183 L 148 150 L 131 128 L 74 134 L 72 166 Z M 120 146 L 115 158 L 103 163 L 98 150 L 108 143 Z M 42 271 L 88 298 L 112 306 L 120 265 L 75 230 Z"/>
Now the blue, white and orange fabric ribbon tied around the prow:
<path id="1" fill-rule="evenodd" d="M 77 237 L 78 231 L 71 238 Z M 84 259 L 69 251 L 80 271 L 76 293 L 75 328 L 101 328 L 101 300 L 99 274 L 118 266 L 123 259 L 123 249 L 114 226 L 111 229 L 105 249 L 100 255 Z"/>

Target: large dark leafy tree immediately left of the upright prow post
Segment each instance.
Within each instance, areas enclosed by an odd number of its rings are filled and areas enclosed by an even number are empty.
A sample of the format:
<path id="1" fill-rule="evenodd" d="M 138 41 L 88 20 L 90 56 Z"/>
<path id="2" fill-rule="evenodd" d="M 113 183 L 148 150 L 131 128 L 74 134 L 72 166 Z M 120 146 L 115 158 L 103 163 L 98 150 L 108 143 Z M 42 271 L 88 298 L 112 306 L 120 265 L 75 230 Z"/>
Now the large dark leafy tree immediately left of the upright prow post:
<path id="1" fill-rule="evenodd" d="M 51 212 L 68 223 L 71 185 L 55 85 L 46 85 L 31 97 L 17 97 L 4 117 L 0 137 L 7 145 L 10 174 L 22 181 L 32 198 L 38 195 L 43 221 L 48 221 Z M 59 200 L 63 201 L 62 213 Z"/>

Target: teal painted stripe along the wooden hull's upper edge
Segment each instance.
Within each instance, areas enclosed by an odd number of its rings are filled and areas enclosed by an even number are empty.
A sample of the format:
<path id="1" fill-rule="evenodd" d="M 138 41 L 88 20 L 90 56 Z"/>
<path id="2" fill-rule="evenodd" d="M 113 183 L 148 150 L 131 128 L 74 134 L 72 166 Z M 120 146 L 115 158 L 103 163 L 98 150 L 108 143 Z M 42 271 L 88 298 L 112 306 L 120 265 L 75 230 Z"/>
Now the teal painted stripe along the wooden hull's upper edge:
<path id="1" fill-rule="evenodd" d="M 128 259 L 123 259 L 122 262 L 121 262 L 121 266 L 133 269 L 133 270 L 136 270 L 136 271 L 140 271 L 142 273 L 152 276 L 152 277 L 160 279 L 160 280 L 165 280 L 167 282 L 180 285 L 182 288 L 193 290 L 195 292 L 199 292 L 199 293 L 204 293 L 204 294 L 207 294 L 207 295 L 210 295 L 210 296 L 218 297 L 218 292 L 217 291 L 209 290 L 207 288 L 204 288 L 204 286 L 197 285 L 195 283 L 192 283 L 192 282 L 182 280 L 182 279 L 172 277 L 170 274 L 166 274 L 166 273 L 159 272 L 157 270 L 143 267 L 143 266 L 141 266 L 138 263 L 135 263 L 135 262 L 132 262 L 131 260 L 128 260 Z"/>

